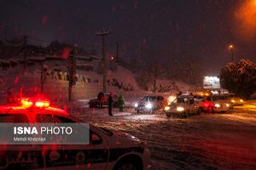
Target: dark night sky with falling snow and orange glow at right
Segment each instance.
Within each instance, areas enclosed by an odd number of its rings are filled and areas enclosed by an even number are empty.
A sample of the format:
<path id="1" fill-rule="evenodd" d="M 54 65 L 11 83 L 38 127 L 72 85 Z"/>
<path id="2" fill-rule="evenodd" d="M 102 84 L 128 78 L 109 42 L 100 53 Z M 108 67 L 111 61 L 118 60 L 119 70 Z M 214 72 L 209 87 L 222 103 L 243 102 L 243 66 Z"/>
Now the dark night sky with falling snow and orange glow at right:
<path id="1" fill-rule="evenodd" d="M 250 3 L 250 7 L 247 3 Z M 253 2 L 253 3 L 252 3 Z M 198 56 L 208 74 L 231 59 L 256 62 L 255 0 L 2 0 L 0 38 L 80 44 L 101 54 L 96 31 L 111 29 L 107 53 L 119 42 L 123 58 L 157 60 Z M 255 6 L 253 6 L 255 5 Z M 251 11 L 248 12 L 247 11 Z M 255 30 L 255 31 L 254 31 Z"/>

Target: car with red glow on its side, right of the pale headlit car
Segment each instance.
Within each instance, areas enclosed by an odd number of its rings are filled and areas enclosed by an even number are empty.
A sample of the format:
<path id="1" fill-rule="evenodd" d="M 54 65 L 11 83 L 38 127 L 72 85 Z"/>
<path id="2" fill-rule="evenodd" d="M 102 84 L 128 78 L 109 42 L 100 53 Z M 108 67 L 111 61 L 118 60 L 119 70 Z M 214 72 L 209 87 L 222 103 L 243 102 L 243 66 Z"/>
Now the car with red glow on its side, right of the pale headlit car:
<path id="1" fill-rule="evenodd" d="M 209 113 L 213 112 L 227 112 L 232 110 L 232 105 L 230 104 L 227 96 L 224 95 L 214 95 L 212 97 L 207 97 L 201 102 L 202 111 L 207 111 Z"/>

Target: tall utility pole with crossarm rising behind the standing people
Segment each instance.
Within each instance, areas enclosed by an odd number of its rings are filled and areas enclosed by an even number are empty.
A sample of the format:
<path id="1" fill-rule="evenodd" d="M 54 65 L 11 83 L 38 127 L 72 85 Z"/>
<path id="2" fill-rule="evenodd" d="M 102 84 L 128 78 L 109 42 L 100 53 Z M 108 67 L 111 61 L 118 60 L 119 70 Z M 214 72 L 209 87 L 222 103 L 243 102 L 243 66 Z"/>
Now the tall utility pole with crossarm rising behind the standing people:
<path id="1" fill-rule="evenodd" d="M 102 31 L 96 32 L 96 36 L 102 37 L 102 64 L 103 64 L 103 93 L 106 93 L 106 72 L 107 72 L 107 64 L 106 64 L 106 56 L 105 56 L 105 39 L 104 36 L 110 34 L 111 31 L 105 31 L 102 28 Z"/>

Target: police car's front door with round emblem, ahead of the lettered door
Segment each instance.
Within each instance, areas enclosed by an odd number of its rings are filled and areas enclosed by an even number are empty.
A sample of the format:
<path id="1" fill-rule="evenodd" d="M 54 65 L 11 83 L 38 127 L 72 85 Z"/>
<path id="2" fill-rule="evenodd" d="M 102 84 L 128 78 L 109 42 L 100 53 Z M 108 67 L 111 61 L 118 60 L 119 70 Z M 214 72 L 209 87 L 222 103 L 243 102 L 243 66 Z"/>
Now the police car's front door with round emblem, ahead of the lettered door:
<path id="1" fill-rule="evenodd" d="M 40 121 L 75 122 L 66 116 L 51 115 L 41 115 Z M 90 144 L 50 144 L 42 147 L 47 169 L 105 169 L 107 166 L 108 143 L 94 129 L 90 129 Z"/>

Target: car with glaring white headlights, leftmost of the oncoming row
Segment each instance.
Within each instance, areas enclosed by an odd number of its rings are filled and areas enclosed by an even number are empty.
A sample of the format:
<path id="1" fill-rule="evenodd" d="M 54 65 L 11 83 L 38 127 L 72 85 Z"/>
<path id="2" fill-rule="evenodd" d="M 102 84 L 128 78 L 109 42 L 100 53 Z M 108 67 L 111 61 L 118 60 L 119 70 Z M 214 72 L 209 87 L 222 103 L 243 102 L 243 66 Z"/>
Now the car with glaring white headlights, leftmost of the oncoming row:
<path id="1" fill-rule="evenodd" d="M 167 105 L 167 99 L 163 96 L 144 96 L 142 99 L 136 103 L 135 111 L 139 112 L 154 112 L 163 110 L 165 105 Z"/>

